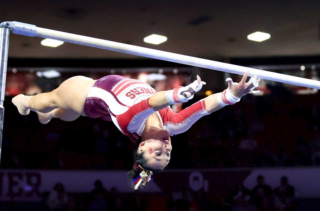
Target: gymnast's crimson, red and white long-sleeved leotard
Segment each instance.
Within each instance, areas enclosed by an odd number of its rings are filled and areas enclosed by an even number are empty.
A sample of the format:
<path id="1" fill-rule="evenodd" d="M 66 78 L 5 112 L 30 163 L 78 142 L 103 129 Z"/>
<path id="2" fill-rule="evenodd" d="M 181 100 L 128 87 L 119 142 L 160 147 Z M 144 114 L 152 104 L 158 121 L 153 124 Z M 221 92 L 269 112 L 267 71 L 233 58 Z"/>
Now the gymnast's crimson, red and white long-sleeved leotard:
<path id="1" fill-rule="evenodd" d="M 113 121 L 116 127 L 133 142 L 140 139 L 148 116 L 156 112 L 163 128 L 170 136 L 188 130 L 202 116 L 209 114 L 204 100 L 183 109 L 179 113 L 170 106 L 154 111 L 149 98 L 156 90 L 148 83 L 125 78 L 120 75 L 108 75 L 98 79 L 88 93 L 84 112 L 91 118 Z"/>

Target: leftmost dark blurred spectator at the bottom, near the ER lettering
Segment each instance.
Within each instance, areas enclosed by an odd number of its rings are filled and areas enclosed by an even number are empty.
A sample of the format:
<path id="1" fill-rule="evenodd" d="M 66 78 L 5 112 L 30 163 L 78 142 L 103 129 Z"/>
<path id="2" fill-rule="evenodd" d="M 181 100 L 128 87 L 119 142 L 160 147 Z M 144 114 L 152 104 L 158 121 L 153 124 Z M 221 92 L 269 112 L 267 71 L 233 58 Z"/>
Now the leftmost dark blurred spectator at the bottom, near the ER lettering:
<path id="1" fill-rule="evenodd" d="M 54 185 L 53 191 L 49 193 L 46 201 L 50 211 L 65 211 L 68 210 L 68 195 L 61 183 Z"/>

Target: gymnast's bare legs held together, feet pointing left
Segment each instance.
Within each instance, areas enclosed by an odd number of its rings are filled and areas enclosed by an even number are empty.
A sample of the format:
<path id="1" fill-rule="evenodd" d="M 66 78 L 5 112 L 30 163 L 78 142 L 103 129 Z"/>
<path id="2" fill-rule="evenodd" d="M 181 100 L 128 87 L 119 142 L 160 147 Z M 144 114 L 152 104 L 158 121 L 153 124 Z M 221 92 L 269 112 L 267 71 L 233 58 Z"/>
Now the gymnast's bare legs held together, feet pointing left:
<path id="1" fill-rule="evenodd" d="M 35 96 L 17 95 L 12 103 L 22 115 L 30 109 L 36 111 L 41 123 L 51 118 L 73 121 L 84 114 L 84 102 L 95 80 L 84 76 L 75 76 L 62 82 L 60 86 L 47 93 Z"/>

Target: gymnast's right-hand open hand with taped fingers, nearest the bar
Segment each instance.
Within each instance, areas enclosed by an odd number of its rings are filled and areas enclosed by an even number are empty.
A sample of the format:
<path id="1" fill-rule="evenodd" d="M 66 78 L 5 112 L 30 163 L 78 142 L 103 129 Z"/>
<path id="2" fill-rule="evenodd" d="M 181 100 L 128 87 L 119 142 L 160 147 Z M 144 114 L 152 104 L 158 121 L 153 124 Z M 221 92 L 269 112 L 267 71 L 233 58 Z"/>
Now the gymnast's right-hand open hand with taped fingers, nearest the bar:
<path id="1" fill-rule="evenodd" d="M 241 98 L 248 93 L 258 93 L 257 91 L 253 91 L 253 89 L 258 87 L 260 79 L 256 80 L 257 75 L 255 75 L 248 82 L 245 82 L 248 74 L 249 71 L 245 72 L 239 83 L 233 82 L 231 78 L 226 79 L 228 82 L 228 89 L 234 96 Z"/>

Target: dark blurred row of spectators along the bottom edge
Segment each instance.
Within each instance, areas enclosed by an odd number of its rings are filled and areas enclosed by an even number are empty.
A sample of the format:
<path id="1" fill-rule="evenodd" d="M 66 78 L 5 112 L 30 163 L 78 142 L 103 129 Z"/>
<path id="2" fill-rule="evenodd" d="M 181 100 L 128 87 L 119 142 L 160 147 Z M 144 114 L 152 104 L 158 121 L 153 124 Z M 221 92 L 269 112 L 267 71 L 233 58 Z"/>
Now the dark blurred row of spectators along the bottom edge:
<path id="1" fill-rule="evenodd" d="M 48 211 L 295 211 L 299 210 L 295 190 L 286 176 L 274 190 L 264 183 L 262 175 L 249 190 L 243 184 L 234 187 L 227 195 L 210 195 L 204 190 L 193 192 L 173 188 L 171 196 L 146 194 L 140 191 L 119 193 L 116 188 L 107 190 L 100 180 L 95 181 L 89 193 L 68 193 L 63 184 L 57 183 L 53 190 L 43 193 Z"/>

